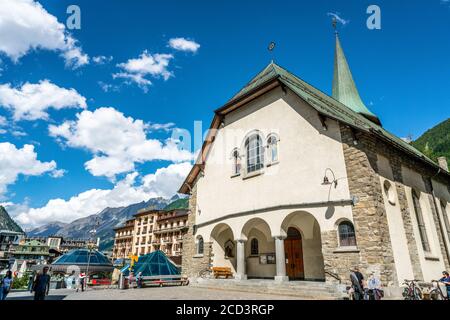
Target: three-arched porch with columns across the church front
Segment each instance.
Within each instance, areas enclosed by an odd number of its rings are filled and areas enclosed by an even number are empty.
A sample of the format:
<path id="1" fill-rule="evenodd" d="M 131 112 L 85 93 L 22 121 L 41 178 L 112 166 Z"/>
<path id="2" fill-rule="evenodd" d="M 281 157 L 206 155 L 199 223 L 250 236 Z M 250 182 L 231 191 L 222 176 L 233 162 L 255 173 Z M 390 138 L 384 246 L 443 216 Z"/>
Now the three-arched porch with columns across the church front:
<path id="1" fill-rule="evenodd" d="M 209 241 L 212 265 L 230 267 L 237 279 L 325 281 L 320 226 L 307 212 L 287 215 L 281 226 L 250 218 L 240 234 L 221 222 L 196 237 L 197 251 Z"/>

